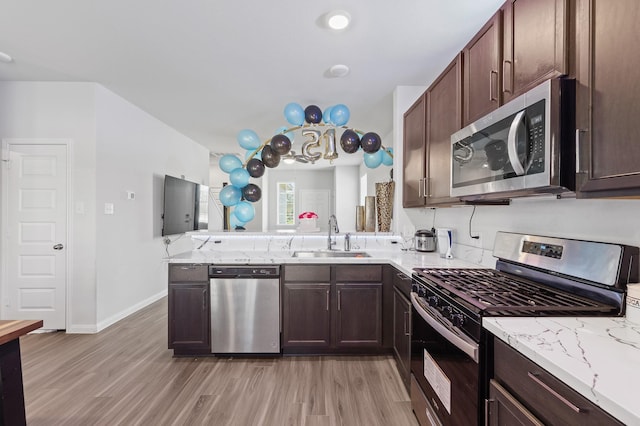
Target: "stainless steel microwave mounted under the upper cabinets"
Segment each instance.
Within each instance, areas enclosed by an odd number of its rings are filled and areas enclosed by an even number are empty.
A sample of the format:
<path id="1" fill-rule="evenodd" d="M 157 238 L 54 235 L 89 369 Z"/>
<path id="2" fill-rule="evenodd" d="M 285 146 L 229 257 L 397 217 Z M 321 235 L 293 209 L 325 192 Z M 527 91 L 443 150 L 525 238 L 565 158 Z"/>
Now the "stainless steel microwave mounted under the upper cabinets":
<path id="1" fill-rule="evenodd" d="M 551 79 L 451 136 L 451 196 L 575 190 L 575 80 Z"/>

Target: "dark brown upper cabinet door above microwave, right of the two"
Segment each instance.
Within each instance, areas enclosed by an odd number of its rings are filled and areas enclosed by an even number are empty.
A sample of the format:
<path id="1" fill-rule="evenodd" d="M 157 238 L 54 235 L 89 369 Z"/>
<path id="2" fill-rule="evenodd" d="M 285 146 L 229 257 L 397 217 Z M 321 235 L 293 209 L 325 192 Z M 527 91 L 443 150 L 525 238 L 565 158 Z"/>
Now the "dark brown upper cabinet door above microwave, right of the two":
<path id="1" fill-rule="evenodd" d="M 509 0 L 502 8 L 502 102 L 568 74 L 567 0 Z"/>

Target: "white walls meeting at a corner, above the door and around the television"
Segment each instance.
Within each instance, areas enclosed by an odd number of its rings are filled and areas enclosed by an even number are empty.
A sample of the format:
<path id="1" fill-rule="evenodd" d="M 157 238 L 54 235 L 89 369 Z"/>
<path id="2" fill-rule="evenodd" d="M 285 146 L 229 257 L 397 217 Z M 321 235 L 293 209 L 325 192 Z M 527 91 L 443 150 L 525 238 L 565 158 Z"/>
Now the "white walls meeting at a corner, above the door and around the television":
<path id="1" fill-rule="evenodd" d="M 0 138 L 73 141 L 67 331 L 95 332 L 166 292 L 163 177 L 206 183 L 206 149 L 93 83 L 0 82 Z"/>

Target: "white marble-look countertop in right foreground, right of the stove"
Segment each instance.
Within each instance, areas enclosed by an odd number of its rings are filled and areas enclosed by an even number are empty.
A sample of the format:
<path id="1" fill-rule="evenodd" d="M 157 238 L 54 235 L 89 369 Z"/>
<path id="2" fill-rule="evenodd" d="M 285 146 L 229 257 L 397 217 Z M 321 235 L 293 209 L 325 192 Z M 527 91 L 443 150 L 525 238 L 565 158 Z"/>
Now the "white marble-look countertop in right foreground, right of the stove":
<path id="1" fill-rule="evenodd" d="M 627 425 L 640 425 L 640 324 L 484 318 L 484 328 Z"/>

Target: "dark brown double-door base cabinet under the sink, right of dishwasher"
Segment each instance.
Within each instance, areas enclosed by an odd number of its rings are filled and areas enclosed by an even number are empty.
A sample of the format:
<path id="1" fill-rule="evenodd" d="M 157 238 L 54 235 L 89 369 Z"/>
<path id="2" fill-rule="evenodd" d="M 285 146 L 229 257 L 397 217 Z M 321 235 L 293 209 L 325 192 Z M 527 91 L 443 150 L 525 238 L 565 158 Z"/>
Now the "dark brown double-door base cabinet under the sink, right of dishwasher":
<path id="1" fill-rule="evenodd" d="M 285 354 L 383 352 L 382 265 L 285 265 Z"/>

